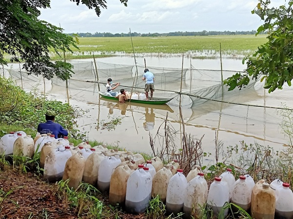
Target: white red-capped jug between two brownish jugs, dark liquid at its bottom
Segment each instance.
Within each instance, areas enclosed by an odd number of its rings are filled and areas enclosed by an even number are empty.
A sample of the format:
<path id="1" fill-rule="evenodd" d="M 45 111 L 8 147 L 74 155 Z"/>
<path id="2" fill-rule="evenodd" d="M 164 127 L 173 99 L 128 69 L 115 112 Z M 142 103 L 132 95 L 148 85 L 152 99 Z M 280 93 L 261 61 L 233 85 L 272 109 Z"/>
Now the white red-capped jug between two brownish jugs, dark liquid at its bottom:
<path id="1" fill-rule="evenodd" d="M 167 187 L 166 213 L 177 215 L 183 211 L 185 191 L 187 186 L 186 177 L 183 170 L 178 169 L 177 173 L 171 177 Z"/>

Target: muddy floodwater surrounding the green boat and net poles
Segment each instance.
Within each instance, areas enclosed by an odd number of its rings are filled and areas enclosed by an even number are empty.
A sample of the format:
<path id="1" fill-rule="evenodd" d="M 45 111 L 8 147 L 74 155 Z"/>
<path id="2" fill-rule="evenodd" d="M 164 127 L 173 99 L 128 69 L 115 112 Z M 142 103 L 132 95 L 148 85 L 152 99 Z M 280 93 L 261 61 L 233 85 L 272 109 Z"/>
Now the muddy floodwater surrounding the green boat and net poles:
<path id="1" fill-rule="evenodd" d="M 96 59 L 97 62 L 116 64 L 135 64 L 133 57 L 113 57 Z M 144 58 L 139 57 L 136 63 L 144 65 Z M 146 66 L 176 67 L 181 68 L 192 66 L 197 69 L 220 69 L 220 60 L 190 60 L 182 61 L 182 57 L 147 57 Z M 223 60 L 223 69 L 242 71 L 245 66 L 241 60 Z M 97 84 L 95 86 L 97 91 Z M 40 86 L 42 89 L 42 86 Z M 104 92 L 104 86 L 102 89 Z M 254 89 L 243 91 L 236 96 L 225 98 L 230 104 L 216 101 L 206 101 L 195 107 L 182 106 L 185 132 L 194 138 L 202 139 L 204 152 L 211 153 L 206 157 L 204 163 L 213 162 L 215 159 L 215 139 L 223 144 L 223 150 L 227 146 L 240 145 L 241 141 L 247 144 L 259 143 L 269 145 L 275 150 L 281 150 L 289 142 L 284 136 L 280 123 L 282 117 L 277 107 L 286 104 L 293 105 L 291 100 L 292 91 L 285 87 L 283 90 L 276 90 L 268 94 L 257 82 Z M 154 96 L 156 93 L 154 93 Z M 66 93 L 60 90 L 51 90 L 49 98 L 67 101 Z M 176 146 L 182 147 L 183 126 L 180 119 L 179 107 L 172 102 L 168 105 L 153 106 L 134 103 L 119 104 L 114 101 L 100 98 L 97 92 L 75 91 L 70 93 L 70 104 L 84 110 L 84 115 L 78 118 L 78 125 L 81 132 L 86 134 L 89 140 L 102 141 L 107 144 L 118 145 L 126 150 L 151 153 L 149 136 L 155 137 L 164 134 L 164 121 L 167 118 L 168 124 L 176 130 Z M 254 106 L 248 106 L 254 105 Z M 260 106 L 260 107 L 256 107 Z M 265 108 L 263 106 L 267 106 Z M 121 119 L 121 124 L 114 125 L 109 130 L 103 124 Z M 160 128 L 161 127 L 161 128 Z M 163 138 L 156 138 L 155 147 L 160 148 Z"/>

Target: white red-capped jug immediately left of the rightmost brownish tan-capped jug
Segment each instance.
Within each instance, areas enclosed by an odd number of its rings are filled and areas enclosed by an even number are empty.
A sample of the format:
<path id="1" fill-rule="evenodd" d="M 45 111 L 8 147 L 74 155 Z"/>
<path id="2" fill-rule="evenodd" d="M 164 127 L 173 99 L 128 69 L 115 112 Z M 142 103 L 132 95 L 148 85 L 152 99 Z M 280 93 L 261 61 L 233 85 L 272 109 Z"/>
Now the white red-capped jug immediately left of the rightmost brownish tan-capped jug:
<path id="1" fill-rule="evenodd" d="M 243 208 L 246 212 L 250 212 L 251 207 L 251 192 L 254 184 L 252 185 L 246 180 L 245 176 L 240 176 L 233 185 L 231 192 L 231 202 Z M 238 209 L 233 205 L 233 213 L 238 212 Z"/>

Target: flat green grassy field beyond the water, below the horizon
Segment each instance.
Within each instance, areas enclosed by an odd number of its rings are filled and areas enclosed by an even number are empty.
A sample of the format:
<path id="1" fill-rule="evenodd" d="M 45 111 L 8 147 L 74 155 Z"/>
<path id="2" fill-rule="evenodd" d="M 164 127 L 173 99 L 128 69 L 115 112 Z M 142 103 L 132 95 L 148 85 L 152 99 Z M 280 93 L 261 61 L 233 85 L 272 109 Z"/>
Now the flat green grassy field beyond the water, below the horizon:
<path id="1" fill-rule="evenodd" d="M 197 37 L 133 37 L 135 53 L 182 54 L 188 52 L 219 52 L 228 55 L 247 55 L 267 42 L 267 35 L 235 35 L 235 36 L 197 36 Z M 79 38 L 78 57 L 89 57 L 88 53 L 99 52 L 99 56 L 115 55 L 115 53 L 133 54 L 130 37 L 113 38 Z M 67 56 L 67 55 L 66 55 Z M 199 54 L 202 57 L 202 54 Z M 75 58 L 69 55 L 68 58 Z"/>

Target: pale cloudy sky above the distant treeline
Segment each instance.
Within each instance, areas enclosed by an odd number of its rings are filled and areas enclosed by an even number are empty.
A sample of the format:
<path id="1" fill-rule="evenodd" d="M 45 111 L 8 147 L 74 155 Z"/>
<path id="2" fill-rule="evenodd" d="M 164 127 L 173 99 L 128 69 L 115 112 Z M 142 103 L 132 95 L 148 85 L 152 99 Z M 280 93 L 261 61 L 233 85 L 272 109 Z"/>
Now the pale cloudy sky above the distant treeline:
<path id="1" fill-rule="evenodd" d="M 272 0 L 273 6 L 285 0 Z M 98 17 L 85 5 L 51 0 L 40 20 L 61 26 L 64 33 L 169 33 L 198 31 L 251 31 L 263 21 L 251 11 L 258 0 L 107 0 Z"/>

